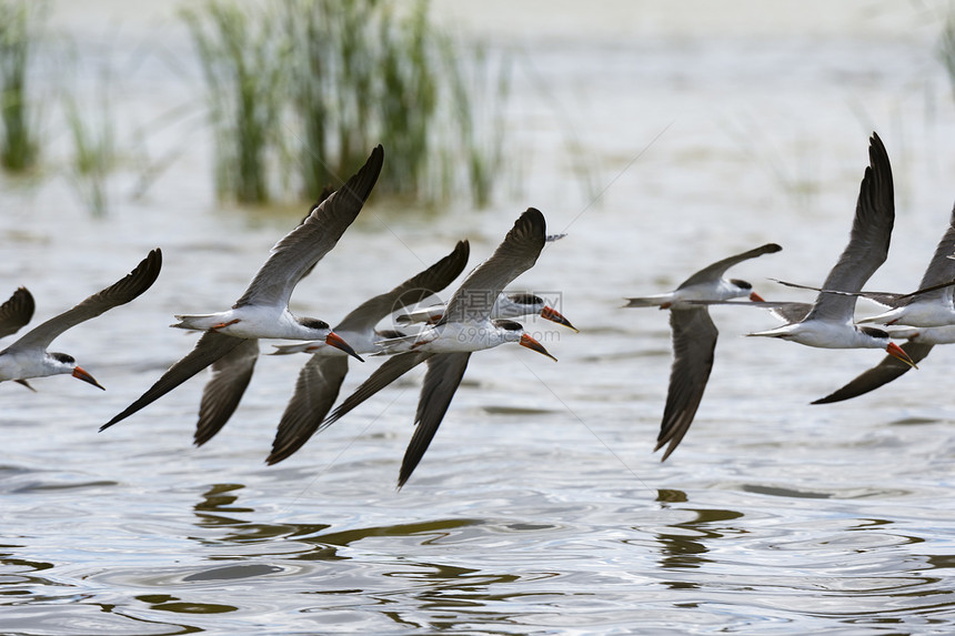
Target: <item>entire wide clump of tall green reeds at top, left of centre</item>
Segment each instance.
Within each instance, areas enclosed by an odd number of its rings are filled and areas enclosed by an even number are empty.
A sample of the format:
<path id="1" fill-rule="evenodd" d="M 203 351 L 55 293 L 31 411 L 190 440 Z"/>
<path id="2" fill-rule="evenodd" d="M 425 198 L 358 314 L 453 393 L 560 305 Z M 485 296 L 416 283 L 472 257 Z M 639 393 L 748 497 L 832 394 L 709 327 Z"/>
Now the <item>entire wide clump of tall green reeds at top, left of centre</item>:
<path id="1" fill-rule="evenodd" d="M 465 57 L 449 54 L 453 47 L 425 0 L 243 7 L 209 0 L 185 13 L 210 95 L 221 194 L 264 201 L 268 174 L 278 168 L 269 159 L 291 157 L 282 174 L 296 173 L 310 200 L 382 143 L 389 162 L 379 192 L 434 201 L 473 175 L 474 201 L 489 201 L 503 128 L 489 145 L 471 121 Z M 506 99 L 507 91 L 493 97 Z M 455 172 L 449 161 L 469 168 Z"/>

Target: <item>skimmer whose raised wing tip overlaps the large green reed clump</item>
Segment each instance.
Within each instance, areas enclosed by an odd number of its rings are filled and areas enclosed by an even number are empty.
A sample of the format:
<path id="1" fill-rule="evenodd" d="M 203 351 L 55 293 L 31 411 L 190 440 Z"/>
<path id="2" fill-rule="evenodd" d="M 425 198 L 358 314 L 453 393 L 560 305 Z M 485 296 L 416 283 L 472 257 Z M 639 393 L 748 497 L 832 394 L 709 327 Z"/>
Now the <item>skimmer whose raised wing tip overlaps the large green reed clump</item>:
<path id="1" fill-rule="evenodd" d="M 365 164 L 344 185 L 322 200 L 302 223 L 272 248 L 269 259 L 231 310 L 214 314 L 178 315 L 181 329 L 204 330 L 195 346 L 173 364 L 145 393 L 107 422 L 100 431 L 152 404 L 203 369 L 213 376 L 203 390 L 197 441 L 208 440 L 231 416 L 252 377 L 259 339 L 324 340 L 361 357 L 328 323 L 298 317 L 289 299 L 299 281 L 312 271 L 355 220 L 381 172 L 384 151 L 372 150 Z M 200 431 L 202 434 L 200 435 Z"/>

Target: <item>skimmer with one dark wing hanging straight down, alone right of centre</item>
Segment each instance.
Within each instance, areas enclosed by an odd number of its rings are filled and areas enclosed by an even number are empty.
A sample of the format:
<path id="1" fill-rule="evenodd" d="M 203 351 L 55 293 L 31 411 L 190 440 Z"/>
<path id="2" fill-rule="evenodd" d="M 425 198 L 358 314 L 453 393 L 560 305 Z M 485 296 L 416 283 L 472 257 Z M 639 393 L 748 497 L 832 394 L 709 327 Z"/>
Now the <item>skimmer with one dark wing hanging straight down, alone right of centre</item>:
<path id="1" fill-rule="evenodd" d="M 726 270 L 747 261 L 773 254 L 782 250 L 776 243 L 766 243 L 748 252 L 736 254 L 704 267 L 686 279 L 676 290 L 652 296 L 626 299 L 626 307 L 659 306 L 670 310 L 670 326 L 673 339 L 673 364 L 670 369 L 670 387 L 666 391 L 666 405 L 660 423 L 654 452 L 670 444 L 661 462 L 676 450 L 690 430 L 700 401 L 706 390 L 710 372 L 713 370 L 713 352 L 720 332 L 710 311 L 704 305 L 688 301 L 725 301 L 746 296 L 751 301 L 763 299 L 753 291 L 753 285 L 740 279 L 724 279 Z"/>

